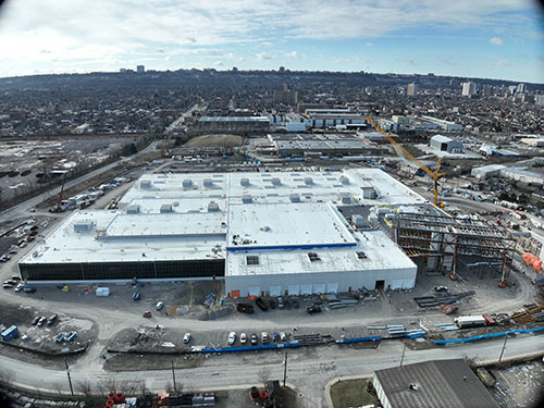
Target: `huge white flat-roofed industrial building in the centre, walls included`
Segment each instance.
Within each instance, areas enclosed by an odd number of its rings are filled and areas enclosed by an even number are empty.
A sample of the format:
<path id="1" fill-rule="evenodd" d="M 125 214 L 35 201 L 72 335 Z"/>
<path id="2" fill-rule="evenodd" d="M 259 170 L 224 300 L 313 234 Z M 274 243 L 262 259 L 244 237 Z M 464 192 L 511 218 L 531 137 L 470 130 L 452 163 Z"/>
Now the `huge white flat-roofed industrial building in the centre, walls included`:
<path id="1" fill-rule="evenodd" d="M 369 222 L 424 202 L 378 169 L 149 174 L 119 209 L 74 212 L 18 268 L 35 283 L 222 279 L 233 297 L 410 288 L 416 264 Z"/>

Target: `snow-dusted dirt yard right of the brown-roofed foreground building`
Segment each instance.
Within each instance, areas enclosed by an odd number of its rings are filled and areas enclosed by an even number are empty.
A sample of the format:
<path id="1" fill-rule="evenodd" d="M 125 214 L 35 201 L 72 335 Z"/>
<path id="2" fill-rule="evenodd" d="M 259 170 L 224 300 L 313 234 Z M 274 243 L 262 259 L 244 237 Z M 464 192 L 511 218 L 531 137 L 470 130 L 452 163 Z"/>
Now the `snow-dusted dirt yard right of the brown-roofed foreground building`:
<path id="1" fill-rule="evenodd" d="M 492 369 L 496 384 L 491 394 L 502 408 L 537 408 L 544 403 L 542 359 L 506 369 Z"/>

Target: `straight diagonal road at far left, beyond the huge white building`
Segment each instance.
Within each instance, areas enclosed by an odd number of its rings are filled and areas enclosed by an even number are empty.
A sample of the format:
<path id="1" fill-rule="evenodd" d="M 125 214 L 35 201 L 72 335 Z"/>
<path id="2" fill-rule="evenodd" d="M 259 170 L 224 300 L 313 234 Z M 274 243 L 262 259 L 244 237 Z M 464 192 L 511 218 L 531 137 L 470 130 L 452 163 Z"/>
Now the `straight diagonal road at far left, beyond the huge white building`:
<path id="1" fill-rule="evenodd" d="M 67 189 L 70 187 L 73 187 L 73 186 L 75 186 L 79 183 L 83 183 L 89 178 L 96 177 L 97 175 L 102 174 L 102 173 L 113 169 L 114 166 L 121 164 L 121 163 L 124 163 L 124 162 L 129 161 L 129 160 L 134 160 L 143 154 L 146 154 L 146 153 L 150 152 L 151 150 L 153 150 L 157 147 L 157 144 L 158 144 L 158 141 L 153 141 L 147 148 L 138 151 L 137 153 L 135 153 L 133 156 L 122 158 L 118 161 L 114 161 L 113 163 L 107 164 L 100 169 L 91 171 L 90 173 L 84 174 L 81 177 L 71 180 L 71 181 L 66 182 L 66 184 L 64 185 L 64 188 Z M 44 200 L 47 200 L 48 198 L 50 198 L 52 196 L 58 195 L 60 193 L 60 190 L 61 190 L 60 186 L 53 187 L 46 193 L 42 193 L 36 197 L 33 197 L 26 201 L 23 201 L 23 202 L 16 205 L 15 207 L 12 207 L 8 210 L 2 211 L 0 213 L 0 222 L 9 221 L 9 220 L 12 220 L 16 217 L 21 217 L 22 213 L 24 213 L 25 211 L 28 211 L 30 208 L 38 206 L 40 202 L 42 202 Z"/>

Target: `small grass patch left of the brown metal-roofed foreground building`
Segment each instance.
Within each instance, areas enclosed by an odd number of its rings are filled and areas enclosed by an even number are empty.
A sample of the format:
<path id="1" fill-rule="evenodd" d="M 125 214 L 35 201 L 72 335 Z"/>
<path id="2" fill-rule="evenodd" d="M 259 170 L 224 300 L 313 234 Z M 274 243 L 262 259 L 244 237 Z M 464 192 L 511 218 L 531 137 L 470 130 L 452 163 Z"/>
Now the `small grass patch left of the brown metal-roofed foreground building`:
<path id="1" fill-rule="evenodd" d="M 361 407 L 379 401 L 373 394 L 372 379 L 338 381 L 331 387 L 331 399 L 334 408 Z"/>

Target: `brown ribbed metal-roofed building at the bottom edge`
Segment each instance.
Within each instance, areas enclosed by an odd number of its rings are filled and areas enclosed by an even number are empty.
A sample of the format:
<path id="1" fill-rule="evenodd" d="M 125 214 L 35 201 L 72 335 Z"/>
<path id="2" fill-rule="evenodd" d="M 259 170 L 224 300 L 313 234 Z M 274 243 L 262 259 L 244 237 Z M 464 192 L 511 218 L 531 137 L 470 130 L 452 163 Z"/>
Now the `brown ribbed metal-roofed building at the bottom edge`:
<path id="1" fill-rule="evenodd" d="M 498 408 L 462 359 L 433 360 L 374 372 L 385 408 Z"/>

